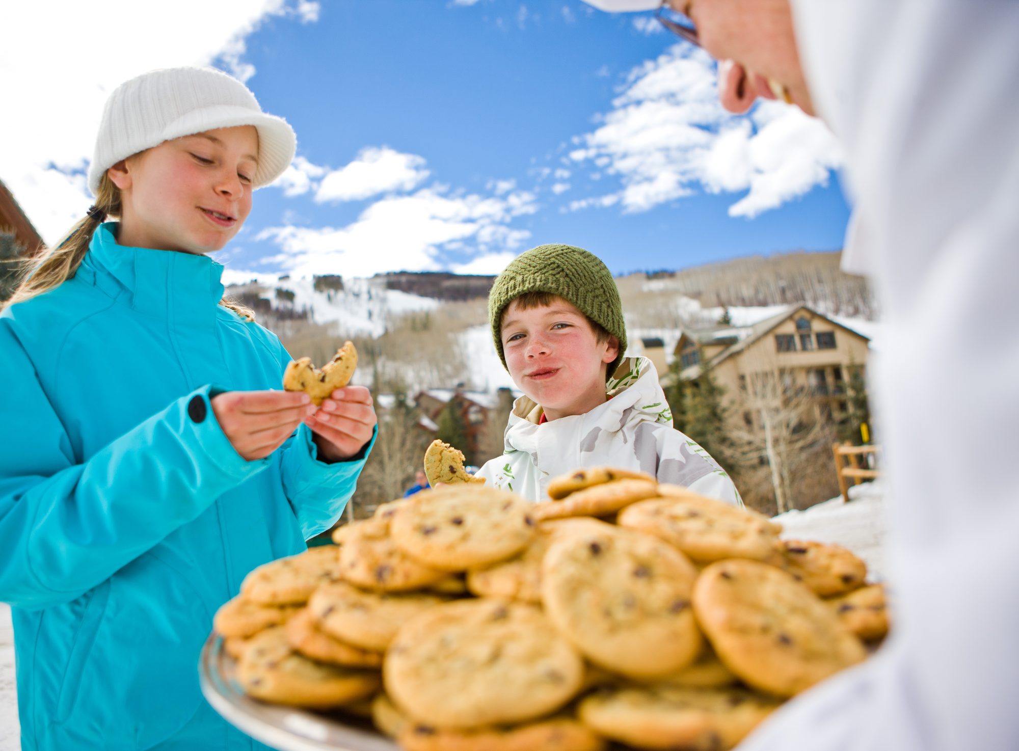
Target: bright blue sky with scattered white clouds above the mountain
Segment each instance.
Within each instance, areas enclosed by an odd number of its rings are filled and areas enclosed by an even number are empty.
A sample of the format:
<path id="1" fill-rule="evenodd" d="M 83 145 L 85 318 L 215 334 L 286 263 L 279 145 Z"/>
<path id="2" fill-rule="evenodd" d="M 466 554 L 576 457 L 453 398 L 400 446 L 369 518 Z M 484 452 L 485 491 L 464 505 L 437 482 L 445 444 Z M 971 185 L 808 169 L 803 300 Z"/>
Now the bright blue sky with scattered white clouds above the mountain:
<path id="1" fill-rule="evenodd" d="M 135 59 L 96 63 L 105 78 L 88 106 L 138 67 L 255 71 L 248 85 L 293 125 L 301 162 L 256 194 L 221 254 L 233 273 L 493 273 L 550 242 L 620 273 L 842 246 L 830 133 L 777 103 L 726 115 L 712 63 L 649 14 L 579 0 L 229 0 L 209 30 L 181 10 L 154 16 L 179 21 L 178 44 L 139 40 Z M 89 64 L 73 75 L 91 84 Z M 64 64 L 55 85 L 78 96 L 88 87 L 70 74 Z M 46 138 L 33 157 L 45 172 L 21 179 L 0 160 L 0 178 L 28 209 L 62 176 L 81 211 L 91 135 L 76 151 Z"/>

